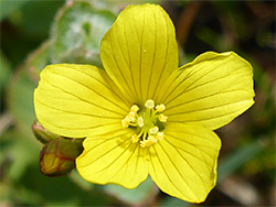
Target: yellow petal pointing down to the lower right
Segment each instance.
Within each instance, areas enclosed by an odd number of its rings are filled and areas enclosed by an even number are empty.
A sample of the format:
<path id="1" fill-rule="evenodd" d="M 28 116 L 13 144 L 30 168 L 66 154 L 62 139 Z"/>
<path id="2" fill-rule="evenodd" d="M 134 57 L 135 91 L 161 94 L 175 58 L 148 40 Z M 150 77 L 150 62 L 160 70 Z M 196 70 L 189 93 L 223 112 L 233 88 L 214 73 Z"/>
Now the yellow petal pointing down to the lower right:
<path id="1" fill-rule="evenodd" d="M 168 124 L 163 140 L 149 148 L 149 173 L 164 193 L 190 203 L 204 201 L 216 182 L 221 141 L 205 128 Z"/>

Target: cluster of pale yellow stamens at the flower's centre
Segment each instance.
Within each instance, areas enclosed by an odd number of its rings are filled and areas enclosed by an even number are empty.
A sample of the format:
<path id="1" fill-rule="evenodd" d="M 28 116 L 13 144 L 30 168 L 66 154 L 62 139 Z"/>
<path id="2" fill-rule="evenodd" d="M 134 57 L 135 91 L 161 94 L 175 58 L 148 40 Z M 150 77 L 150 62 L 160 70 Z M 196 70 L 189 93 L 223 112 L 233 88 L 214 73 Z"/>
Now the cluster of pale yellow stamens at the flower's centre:
<path id="1" fill-rule="evenodd" d="M 164 105 L 156 106 L 151 99 L 145 102 L 142 110 L 137 105 L 130 108 L 129 113 L 121 120 L 121 126 L 124 129 L 135 128 L 136 133 L 131 135 L 132 143 L 140 142 L 140 146 L 146 148 L 163 139 L 163 123 L 168 119 L 162 113 L 164 109 Z"/>

